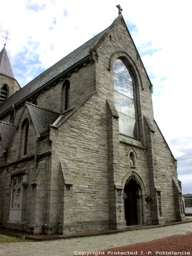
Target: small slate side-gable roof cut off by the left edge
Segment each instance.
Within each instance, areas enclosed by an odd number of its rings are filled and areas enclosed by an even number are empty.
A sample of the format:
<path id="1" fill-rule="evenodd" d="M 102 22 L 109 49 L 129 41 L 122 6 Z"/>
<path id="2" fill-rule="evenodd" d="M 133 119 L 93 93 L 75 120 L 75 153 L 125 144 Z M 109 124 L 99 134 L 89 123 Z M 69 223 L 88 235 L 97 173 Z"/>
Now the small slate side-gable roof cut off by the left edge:
<path id="1" fill-rule="evenodd" d="M 5 149 L 7 149 L 9 146 L 9 142 L 11 140 L 14 129 L 15 129 L 15 126 L 9 123 L 0 121 L 0 134 L 2 138 L 2 144 Z"/>

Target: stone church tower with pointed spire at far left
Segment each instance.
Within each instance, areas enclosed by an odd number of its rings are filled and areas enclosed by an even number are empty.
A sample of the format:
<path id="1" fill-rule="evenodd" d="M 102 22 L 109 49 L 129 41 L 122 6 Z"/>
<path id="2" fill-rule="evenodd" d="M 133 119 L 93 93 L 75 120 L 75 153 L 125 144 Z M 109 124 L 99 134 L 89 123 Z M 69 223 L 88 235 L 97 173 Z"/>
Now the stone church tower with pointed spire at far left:
<path id="1" fill-rule="evenodd" d="M 20 89 L 5 49 L 0 53 L 0 104 Z"/>

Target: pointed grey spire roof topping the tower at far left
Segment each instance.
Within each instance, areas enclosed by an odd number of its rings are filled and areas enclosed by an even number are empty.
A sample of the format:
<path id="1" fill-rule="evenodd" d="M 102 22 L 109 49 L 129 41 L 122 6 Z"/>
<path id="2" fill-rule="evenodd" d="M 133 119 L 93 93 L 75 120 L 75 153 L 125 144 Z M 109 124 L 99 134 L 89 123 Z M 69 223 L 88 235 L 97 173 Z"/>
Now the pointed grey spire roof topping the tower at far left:
<path id="1" fill-rule="evenodd" d="M 11 64 L 10 64 L 5 47 L 0 52 L 0 74 L 14 78 Z"/>

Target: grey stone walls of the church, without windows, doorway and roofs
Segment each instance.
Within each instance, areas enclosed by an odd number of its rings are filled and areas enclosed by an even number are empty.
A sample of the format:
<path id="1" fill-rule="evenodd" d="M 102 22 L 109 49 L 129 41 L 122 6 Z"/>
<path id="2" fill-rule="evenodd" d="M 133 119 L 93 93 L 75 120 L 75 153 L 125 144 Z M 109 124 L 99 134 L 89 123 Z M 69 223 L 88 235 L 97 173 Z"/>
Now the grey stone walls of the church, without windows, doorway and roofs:
<path id="1" fill-rule="evenodd" d="M 151 83 L 120 16 L 96 51 L 95 62 L 66 77 L 70 81 L 69 108 L 79 108 L 58 128 L 50 126 L 49 135 L 40 138 L 36 164 L 33 123 L 27 109 L 22 112 L 19 106 L 16 110 L 15 123 L 22 116 L 7 162 L 0 170 L 0 184 L 4 184 L 0 185 L 0 191 L 4 191 L 0 196 L 3 225 L 12 227 L 8 220 L 14 172 L 28 175 L 23 224 L 28 232 L 71 233 L 123 227 L 124 202 L 119 195 L 130 175 L 137 177 L 142 186 L 142 224 L 176 219 L 179 194 L 175 197 L 177 187 L 173 187 L 173 177 L 177 179 L 175 159 L 154 122 Z M 127 59 L 134 74 L 140 140 L 119 135 L 113 81 L 113 62 L 118 57 Z M 64 81 L 34 95 L 37 105 L 60 113 Z M 10 114 L 5 121 L 9 122 Z M 25 118 L 30 122 L 28 152 L 22 156 L 21 126 Z M 129 163 L 131 151 L 135 166 Z M 148 195 L 154 200 L 145 204 Z"/>

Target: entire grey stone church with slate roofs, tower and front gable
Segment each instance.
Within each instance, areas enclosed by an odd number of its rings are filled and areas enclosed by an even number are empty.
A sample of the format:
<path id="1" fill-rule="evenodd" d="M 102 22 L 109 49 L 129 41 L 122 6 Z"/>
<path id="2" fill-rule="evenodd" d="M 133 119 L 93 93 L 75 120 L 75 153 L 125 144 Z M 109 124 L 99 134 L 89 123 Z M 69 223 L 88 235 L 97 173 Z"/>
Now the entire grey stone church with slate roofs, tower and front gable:
<path id="1" fill-rule="evenodd" d="M 177 162 L 121 15 L 20 89 L 0 53 L 0 225 L 73 233 L 183 220 Z"/>

